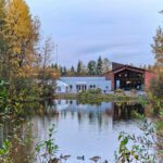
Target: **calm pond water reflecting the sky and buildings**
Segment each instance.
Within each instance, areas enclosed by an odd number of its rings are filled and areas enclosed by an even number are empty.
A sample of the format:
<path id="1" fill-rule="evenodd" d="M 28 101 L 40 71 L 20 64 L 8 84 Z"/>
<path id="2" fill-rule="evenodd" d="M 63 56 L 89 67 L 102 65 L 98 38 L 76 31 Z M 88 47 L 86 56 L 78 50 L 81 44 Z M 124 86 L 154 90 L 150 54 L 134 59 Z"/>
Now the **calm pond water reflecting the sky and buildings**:
<path id="1" fill-rule="evenodd" d="M 131 117 L 133 111 L 140 114 L 145 112 L 140 104 L 131 102 L 82 104 L 76 100 L 54 100 L 46 102 L 43 109 L 27 116 L 26 121 L 33 124 L 30 134 L 35 137 L 35 142 L 47 140 L 49 128 L 52 124 L 55 125 L 53 138 L 59 146 L 57 155 L 70 154 L 67 163 L 89 163 L 89 159 L 96 155 L 101 156 L 101 162 L 108 160 L 114 163 L 114 152 L 120 143 L 118 134 L 141 133 L 137 122 Z M 3 133 L 0 136 L 1 141 L 8 133 L 8 127 L 10 126 L 0 128 Z M 26 133 L 22 131 L 21 135 L 25 137 Z M 26 150 L 34 149 L 35 142 Z M 26 152 L 20 149 L 16 163 L 22 163 Z M 80 155 L 85 155 L 85 161 L 77 160 Z"/>

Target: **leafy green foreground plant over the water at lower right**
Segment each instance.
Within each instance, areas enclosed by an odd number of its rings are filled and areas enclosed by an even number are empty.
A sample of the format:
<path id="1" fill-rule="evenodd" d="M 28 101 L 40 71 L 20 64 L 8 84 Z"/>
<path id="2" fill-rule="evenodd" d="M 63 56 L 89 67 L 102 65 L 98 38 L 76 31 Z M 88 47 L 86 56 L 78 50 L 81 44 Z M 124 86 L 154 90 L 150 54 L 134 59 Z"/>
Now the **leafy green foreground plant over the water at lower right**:
<path id="1" fill-rule="evenodd" d="M 140 124 L 141 136 L 122 131 L 118 136 L 120 147 L 115 152 L 116 163 L 155 163 L 155 129 L 151 122 L 143 118 Z"/>

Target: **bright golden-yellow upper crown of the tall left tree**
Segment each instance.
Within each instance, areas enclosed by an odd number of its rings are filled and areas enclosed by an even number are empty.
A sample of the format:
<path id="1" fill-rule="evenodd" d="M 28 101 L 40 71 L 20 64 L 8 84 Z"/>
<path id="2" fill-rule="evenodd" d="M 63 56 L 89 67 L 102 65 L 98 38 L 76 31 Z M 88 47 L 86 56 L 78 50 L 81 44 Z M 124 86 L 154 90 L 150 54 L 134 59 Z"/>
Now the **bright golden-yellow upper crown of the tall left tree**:
<path id="1" fill-rule="evenodd" d="M 32 35 L 32 17 L 28 7 L 23 0 L 10 0 L 7 5 L 7 28 L 12 30 L 12 34 L 20 39 Z"/>

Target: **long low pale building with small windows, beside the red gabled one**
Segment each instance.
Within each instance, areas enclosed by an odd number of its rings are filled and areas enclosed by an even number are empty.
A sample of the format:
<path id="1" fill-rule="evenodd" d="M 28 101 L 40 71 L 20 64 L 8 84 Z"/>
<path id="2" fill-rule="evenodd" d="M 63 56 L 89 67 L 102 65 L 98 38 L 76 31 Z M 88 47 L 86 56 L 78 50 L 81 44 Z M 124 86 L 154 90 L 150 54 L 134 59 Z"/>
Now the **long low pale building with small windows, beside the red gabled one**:
<path id="1" fill-rule="evenodd" d="M 73 77 L 61 77 L 60 80 L 66 84 L 68 88 L 65 92 L 79 92 L 88 89 L 100 88 L 103 92 L 111 90 L 111 83 L 103 76 L 73 76 Z M 61 87 L 58 86 L 58 92 L 63 92 Z"/>

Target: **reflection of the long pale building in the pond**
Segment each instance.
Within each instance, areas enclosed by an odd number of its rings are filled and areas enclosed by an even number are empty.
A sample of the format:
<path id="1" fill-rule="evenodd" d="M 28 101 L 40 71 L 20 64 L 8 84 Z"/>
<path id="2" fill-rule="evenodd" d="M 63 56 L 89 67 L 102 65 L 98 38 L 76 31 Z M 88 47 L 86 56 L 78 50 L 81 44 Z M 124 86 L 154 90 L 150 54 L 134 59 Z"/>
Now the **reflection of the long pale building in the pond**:
<path id="1" fill-rule="evenodd" d="M 55 100 L 57 110 L 60 113 L 60 118 L 76 120 L 79 125 L 89 124 L 98 125 L 112 129 L 113 110 L 112 102 L 101 102 L 97 104 L 82 104 L 77 100 Z"/>

